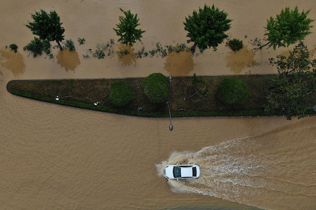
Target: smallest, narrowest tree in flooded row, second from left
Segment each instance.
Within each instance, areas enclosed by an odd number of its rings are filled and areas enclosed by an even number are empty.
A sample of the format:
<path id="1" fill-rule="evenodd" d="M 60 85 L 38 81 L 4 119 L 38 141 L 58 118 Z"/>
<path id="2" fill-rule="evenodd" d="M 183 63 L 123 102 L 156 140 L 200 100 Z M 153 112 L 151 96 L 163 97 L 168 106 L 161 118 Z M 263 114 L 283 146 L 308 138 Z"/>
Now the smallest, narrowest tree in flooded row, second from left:
<path id="1" fill-rule="evenodd" d="M 120 8 L 120 10 L 125 14 L 125 17 L 119 16 L 120 24 L 116 24 L 117 29 L 113 28 L 116 32 L 116 35 L 119 36 L 118 42 L 122 41 L 123 44 L 136 43 L 136 40 L 141 41 L 142 33 L 146 31 L 142 31 L 141 29 L 136 29 L 140 24 L 138 23 L 139 19 L 137 19 L 137 14 L 131 14 L 131 11 L 124 11 Z"/>

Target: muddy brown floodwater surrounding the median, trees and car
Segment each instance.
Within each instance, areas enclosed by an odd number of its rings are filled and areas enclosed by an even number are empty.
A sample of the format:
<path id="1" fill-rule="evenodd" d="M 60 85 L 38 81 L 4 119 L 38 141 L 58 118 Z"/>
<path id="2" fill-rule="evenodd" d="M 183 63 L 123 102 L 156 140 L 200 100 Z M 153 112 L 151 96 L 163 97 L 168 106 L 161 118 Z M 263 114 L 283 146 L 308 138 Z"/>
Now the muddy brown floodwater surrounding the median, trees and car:
<path id="1" fill-rule="evenodd" d="M 289 48 L 256 50 L 263 26 L 286 6 L 311 9 L 313 1 L 206 1 L 233 19 L 231 38 L 245 48 L 137 58 L 156 43 L 176 45 L 187 38 L 183 21 L 202 1 L 2 1 L 0 7 L 0 208 L 1 209 L 313 209 L 316 206 L 316 126 L 314 116 L 167 118 L 111 115 L 15 97 L 6 91 L 13 79 L 145 77 L 268 74 L 268 58 Z M 98 43 L 117 40 L 119 8 L 137 13 L 142 43 L 129 49 L 112 45 L 104 60 L 84 59 Z M 56 10 L 65 38 L 76 52 L 52 50 L 33 58 L 22 50 L 33 39 L 23 25 L 34 10 Z M 314 23 L 313 23 L 314 24 Z M 315 31 L 305 43 L 315 51 Z M 79 46 L 77 37 L 85 38 Z M 245 38 L 246 37 L 246 38 Z M 5 46 L 15 43 L 18 52 Z M 188 44 L 191 46 L 192 43 Z M 52 45 L 56 45 L 52 43 Z M 128 47 L 127 47 L 128 48 Z M 91 54 L 89 54 L 90 57 Z M 313 58 L 315 56 L 313 55 Z M 197 163 L 201 177 L 168 181 L 168 163 Z"/>

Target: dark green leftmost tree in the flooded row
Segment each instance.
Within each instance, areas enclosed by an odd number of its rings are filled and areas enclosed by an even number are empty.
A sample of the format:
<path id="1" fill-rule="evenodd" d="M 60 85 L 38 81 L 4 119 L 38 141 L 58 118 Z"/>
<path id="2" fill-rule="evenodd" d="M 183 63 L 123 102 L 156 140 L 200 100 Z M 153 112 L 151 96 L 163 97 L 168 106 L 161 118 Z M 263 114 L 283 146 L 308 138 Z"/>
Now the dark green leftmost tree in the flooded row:
<path id="1" fill-rule="evenodd" d="M 48 14 L 46 11 L 41 9 L 39 12 L 35 11 L 35 14 L 31 14 L 34 22 L 28 22 L 25 25 L 29 28 L 34 35 L 40 37 L 41 40 L 47 39 L 48 41 L 56 41 L 59 48 L 62 50 L 62 46 L 59 42 L 64 40 L 64 27 L 61 27 L 63 23 L 60 22 L 60 17 L 56 11 L 50 11 Z"/>

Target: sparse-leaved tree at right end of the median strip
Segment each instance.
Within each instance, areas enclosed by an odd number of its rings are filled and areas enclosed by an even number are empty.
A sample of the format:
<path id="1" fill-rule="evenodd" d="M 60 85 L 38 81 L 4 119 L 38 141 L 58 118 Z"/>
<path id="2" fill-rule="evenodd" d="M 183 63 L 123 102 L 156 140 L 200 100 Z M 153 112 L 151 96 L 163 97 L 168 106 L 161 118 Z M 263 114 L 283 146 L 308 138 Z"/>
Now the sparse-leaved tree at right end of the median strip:
<path id="1" fill-rule="evenodd" d="M 314 104 L 308 102 L 309 94 L 316 91 L 316 59 L 310 62 L 307 47 L 300 43 L 289 57 L 277 55 L 276 60 L 270 58 L 270 64 L 275 65 L 278 71 L 272 77 L 273 86 L 268 89 L 266 106 L 267 111 L 285 108 L 286 118 L 299 115 L 298 119 L 305 117 L 307 109 Z"/>

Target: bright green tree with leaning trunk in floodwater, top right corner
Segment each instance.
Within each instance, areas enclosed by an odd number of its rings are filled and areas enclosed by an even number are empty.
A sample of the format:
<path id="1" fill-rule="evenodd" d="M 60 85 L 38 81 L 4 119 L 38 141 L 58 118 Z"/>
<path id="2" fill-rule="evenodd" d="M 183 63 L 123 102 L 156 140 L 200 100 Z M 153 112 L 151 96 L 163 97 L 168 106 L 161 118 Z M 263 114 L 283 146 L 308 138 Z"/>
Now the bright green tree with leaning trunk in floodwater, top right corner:
<path id="1" fill-rule="evenodd" d="M 276 15 L 276 19 L 270 17 L 267 20 L 267 27 L 265 28 L 264 40 L 268 43 L 261 45 L 260 49 L 269 44 L 269 47 L 289 47 L 290 44 L 295 44 L 299 40 L 303 40 L 308 34 L 312 32 L 310 29 L 313 27 L 310 25 L 314 20 L 307 18 L 307 12 L 298 12 L 297 7 L 294 10 L 290 10 L 288 7 L 285 10 L 281 10 L 280 14 Z"/>

